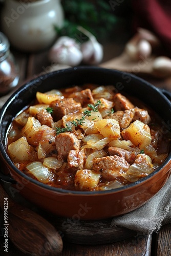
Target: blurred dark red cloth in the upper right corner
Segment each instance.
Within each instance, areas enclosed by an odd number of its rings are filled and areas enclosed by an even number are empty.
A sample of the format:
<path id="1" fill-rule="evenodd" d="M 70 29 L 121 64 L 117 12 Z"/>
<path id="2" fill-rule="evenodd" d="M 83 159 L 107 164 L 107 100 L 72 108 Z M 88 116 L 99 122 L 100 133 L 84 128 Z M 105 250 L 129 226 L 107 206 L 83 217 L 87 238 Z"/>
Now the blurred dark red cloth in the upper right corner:
<path id="1" fill-rule="evenodd" d="M 171 0 L 132 0 L 134 25 L 152 31 L 171 57 Z"/>

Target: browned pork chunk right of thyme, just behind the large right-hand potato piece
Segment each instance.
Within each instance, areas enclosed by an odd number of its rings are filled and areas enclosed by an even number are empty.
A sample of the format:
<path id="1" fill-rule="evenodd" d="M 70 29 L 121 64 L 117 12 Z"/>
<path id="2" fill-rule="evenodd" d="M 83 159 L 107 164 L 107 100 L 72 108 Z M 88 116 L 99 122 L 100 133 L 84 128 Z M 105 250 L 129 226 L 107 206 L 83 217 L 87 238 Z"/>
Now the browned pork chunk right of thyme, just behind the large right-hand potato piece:
<path id="1" fill-rule="evenodd" d="M 134 114 L 131 110 L 120 110 L 111 115 L 111 118 L 114 118 L 116 121 L 118 121 L 121 129 L 126 129 L 133 120 L 133 117 Z"/>

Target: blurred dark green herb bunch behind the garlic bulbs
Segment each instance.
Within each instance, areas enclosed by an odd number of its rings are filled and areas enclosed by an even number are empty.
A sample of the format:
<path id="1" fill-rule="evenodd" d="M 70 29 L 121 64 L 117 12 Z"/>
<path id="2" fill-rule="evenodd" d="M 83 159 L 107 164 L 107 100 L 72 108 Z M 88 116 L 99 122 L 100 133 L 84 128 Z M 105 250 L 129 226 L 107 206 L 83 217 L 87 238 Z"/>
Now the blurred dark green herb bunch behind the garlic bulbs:
<path id="1" fill-rule="evenodd" d="M 112 31 L 119 19 L 114 15 L 110 3 L 105 0 L 62 0 L 61 4 L 65 13 L 65 22 L 61 29 L 55 27 L 59 36 L 66 35 L 80 40 L 77 38 L 77 27 L 82 26 L 100 40 Z M 87 40 L 87 37 L 82 35 L 81 39 Z"/>

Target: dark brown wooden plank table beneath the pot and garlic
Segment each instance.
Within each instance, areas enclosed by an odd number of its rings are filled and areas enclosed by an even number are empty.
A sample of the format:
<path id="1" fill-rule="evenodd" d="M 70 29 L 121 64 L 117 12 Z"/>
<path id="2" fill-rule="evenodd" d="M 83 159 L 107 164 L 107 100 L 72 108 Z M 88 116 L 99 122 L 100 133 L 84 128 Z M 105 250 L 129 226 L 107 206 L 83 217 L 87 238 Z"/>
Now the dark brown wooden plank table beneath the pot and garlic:
<path id="1" fill-rule="evenodd" d="M 120 38 L 122 40 L 123 38 Z M 124 48 L 124 41 L 127 38 L 124 37 L 122 44 L 116 41 L 104 44 L 104 58 L 103 61 L 107 61 L 113 57 L 119 56 Z M 21 53 L 13 51 L 15 58 L 17 59 L 20 67 L 20 80 L 19 86 L 26 80 L 33 78 L 39 73 L 45 73 L 54 70 L 56 67 L 52 66 L 47 58 L 48 51 L 44 51 L 36 54 Z M 60 68 L 60 67 L 57 67 Z M 155 84 L 160 88 L 171 90 L 171 79 L 156 79 L 154 77 L 145 76 L 144 74 L 137 73 L 138 76 L 144 77 L 149 82 Z M 158 233 L 153 233 L 150 236 L 140 235 L 138 237 L 131 237 L 129 239 L 105 244 L 105 245 L 77 245 L 72 243 L 64 243 L 63 251 L 60 256 L 169 256 L 171 255 L 171 224 L 163 226 Z M 1 233 L 1 242 L 3 241 Z M 9 256 L 22 256 L 24 255 L 9 241 L 8 254 L 4 252 L 3 244 L 0 248 L 1 255 Z"/>

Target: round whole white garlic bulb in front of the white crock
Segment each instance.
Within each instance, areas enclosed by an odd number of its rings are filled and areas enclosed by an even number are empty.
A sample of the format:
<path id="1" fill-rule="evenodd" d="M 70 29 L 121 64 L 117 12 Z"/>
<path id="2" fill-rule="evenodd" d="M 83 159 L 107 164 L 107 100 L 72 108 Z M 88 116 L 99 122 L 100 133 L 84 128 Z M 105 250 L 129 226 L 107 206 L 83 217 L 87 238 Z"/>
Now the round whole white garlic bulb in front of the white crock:
<path id="1" fill-rule="evenodd" d="M 82 61 L 82 53 L 73 38 L 61 36 L 51 48 L 49 60 L 63 65 L 77 66 Z"/>

